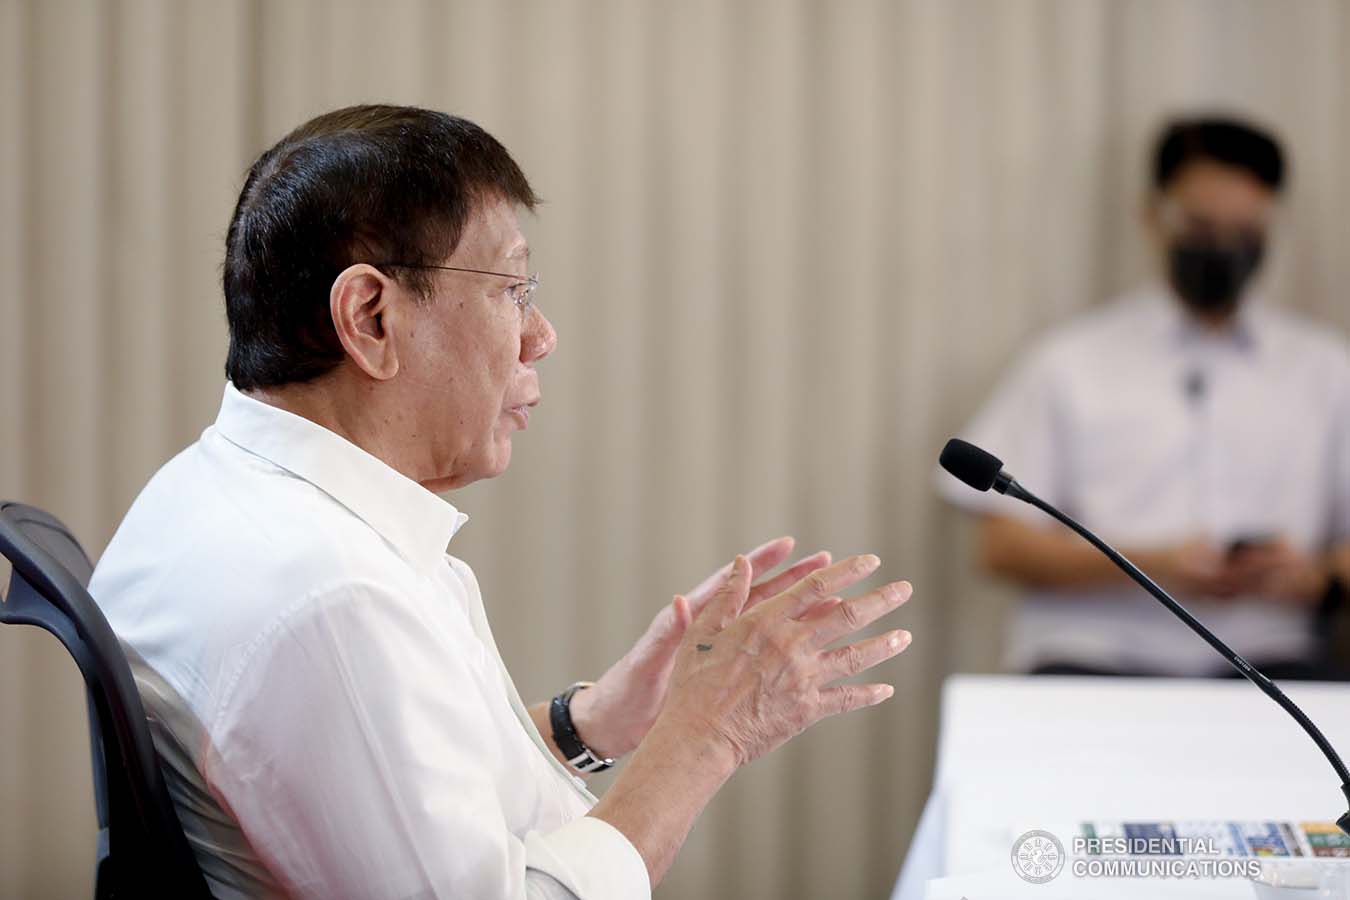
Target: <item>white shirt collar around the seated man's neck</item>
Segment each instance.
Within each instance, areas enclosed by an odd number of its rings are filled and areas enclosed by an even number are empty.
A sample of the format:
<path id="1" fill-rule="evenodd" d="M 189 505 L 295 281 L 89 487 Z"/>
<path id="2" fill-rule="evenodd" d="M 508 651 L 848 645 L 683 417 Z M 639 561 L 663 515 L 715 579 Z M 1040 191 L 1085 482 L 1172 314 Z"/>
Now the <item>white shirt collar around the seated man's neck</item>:
<path id="1" fill-rule="evenodd" d="M 468 517 L 340 434 L 225 383 L 216 430 L 342 503 L 427 572 Z"/>

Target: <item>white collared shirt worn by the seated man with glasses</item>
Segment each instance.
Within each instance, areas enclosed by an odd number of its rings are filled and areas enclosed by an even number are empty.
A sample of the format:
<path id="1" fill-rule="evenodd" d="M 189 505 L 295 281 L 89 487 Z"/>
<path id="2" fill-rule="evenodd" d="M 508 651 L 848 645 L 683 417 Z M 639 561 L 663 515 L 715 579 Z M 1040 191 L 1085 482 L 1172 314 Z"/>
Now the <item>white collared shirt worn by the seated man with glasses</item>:
<path id="1" fill-rule="evenodd" d="M 90 584 L 217 897 L 648 897 L 502 665 L 466 517 L 225 387 Z"/>

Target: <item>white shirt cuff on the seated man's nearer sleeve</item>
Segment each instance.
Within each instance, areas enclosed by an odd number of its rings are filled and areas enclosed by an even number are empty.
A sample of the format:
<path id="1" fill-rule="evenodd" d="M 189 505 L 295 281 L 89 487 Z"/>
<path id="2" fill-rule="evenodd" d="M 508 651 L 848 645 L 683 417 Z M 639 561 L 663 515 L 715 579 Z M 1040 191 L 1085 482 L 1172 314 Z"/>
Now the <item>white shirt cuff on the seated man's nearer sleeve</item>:
<path id="1" fill-rule="evenodd" d="M 647 900 L 652 882 L 637 847 L 594 816 L 525 835 L 525 868 L 556 878 L 578 900 Z"/>

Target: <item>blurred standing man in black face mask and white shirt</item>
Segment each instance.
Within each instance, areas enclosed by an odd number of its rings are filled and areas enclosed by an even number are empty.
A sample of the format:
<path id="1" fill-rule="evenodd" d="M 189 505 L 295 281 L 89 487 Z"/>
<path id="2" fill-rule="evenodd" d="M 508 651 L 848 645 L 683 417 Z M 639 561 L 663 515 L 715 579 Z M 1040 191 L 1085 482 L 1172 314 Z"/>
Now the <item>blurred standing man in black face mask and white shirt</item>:
<path id="1" fill-rule="evenodd" d="M 1278 144 L 1251 125 L 1166 128 L 1148 212 L 1165 281 L 1042 340 L 964 434 L 1238 652 L 1297 677 L 1327 673 L 1314 610 L 1350 578 L 1350 354 L 1250 290 L 1282 184 Z M 1010 665 L 1224 673 L 1076 536 L 1010 498 L 940 483 L 980 515 L 983 564 L 1027 590 Z"/>

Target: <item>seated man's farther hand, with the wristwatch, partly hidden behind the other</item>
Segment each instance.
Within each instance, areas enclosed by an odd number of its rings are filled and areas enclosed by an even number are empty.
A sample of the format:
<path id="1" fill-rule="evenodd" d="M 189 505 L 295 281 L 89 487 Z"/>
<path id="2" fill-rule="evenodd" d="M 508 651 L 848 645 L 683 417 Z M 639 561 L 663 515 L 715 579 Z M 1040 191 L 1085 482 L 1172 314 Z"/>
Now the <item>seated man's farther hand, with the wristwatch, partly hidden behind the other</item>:
<path id="1" fill-rule="evenodd" d="M 794 540 L 780 537 L 761 544 L 749 553 L 752 578 L 760 579 L 792 552 Z M 780 594 L 818 568 L 830 564 L 828 552 L 813 553 L 751 588 L 745 609 Z M 593 752 L 603 757 L 621 757 L 637 748 L 652 727 L 670 687 L 675 650 L 690 622 L 703 611 L 726 580 L 730 564 L 662 607 L 633 649 L 612 665 L 594 687 L 572 695 L 571 714 L 576 734 Z"/>

